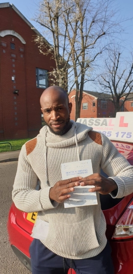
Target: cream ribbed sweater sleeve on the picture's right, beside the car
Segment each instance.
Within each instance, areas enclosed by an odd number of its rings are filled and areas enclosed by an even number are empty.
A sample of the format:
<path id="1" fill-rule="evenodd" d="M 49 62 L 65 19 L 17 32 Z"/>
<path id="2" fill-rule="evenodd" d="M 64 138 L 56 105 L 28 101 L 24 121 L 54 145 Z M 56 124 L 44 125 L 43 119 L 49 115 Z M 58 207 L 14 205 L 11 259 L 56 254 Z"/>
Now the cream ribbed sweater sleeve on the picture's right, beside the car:
<path id="1" fill-rule="evenodd" d="M 101 167 L 118 185 L 117 195 L 110 194 L 113 198 L 122 198 L 133 192 L 133 166 L 105 135 L 101 136 L 104 150 Z"/>

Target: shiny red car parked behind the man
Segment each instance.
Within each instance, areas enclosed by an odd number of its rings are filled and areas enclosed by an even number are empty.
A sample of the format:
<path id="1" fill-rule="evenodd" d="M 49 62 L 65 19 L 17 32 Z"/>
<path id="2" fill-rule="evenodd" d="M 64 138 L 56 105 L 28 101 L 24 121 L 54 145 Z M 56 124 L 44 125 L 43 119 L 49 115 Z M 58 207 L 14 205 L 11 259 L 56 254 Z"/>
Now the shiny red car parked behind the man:
<path id="1" fill-rule="evenodd" d="M 112 142 L 133 165 L 133 143 Z M 107 222 L 106 235 L 112 247 L 115 274 L 133 274 L 133 194 L 121 199 L 113 199 L 109 194 L 100 195 L 100 198 Z M 36 216 L 36 212 L 27 214 L 12 203 L 7 222 L 10 246 L 29 270 L 29 246 L 33 240 L 30 234 Z"/>

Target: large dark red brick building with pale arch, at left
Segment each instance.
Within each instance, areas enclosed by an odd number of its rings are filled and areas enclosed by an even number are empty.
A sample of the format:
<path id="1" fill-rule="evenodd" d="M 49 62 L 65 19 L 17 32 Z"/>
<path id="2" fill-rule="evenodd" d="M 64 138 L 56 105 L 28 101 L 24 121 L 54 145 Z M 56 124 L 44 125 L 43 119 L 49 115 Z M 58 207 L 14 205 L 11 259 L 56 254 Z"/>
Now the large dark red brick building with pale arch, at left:
<path id="1" fill-rule="evenodd" d="M 20 11 L 0 3 L 0 139 L 35 137 L 41 128 L 39 99 L 55 67 L 33 38 L 41 35 Z M 50 84 L 50 83 L 49 83 Z"/>

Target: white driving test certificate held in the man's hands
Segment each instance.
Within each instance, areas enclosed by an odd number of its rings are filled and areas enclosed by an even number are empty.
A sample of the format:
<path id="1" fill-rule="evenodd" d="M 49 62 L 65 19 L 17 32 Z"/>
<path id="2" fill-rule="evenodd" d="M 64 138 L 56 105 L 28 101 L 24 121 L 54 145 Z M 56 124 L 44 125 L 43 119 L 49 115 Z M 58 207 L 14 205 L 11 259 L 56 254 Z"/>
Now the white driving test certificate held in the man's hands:
<path id="1" fill-rule="evenodd" d="M 62 180 L 73 177 L 87 177 L 93 174 L 92 161 L 82 160 L 61 164 Z M 90 193 L 88 190 L 94 186 L 75 186 L 71 197 L 64 201 L 64 207 L 77 207 L 98 204 L 96 192 Z"/>

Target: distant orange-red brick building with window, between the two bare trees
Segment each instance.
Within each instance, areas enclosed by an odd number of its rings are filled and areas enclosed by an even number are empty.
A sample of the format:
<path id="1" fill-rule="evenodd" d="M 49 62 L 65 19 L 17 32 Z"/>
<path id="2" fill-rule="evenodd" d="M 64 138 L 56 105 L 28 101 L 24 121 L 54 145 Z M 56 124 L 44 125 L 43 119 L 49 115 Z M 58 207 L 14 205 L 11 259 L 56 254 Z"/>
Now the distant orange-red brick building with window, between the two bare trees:
<path id="1" fill-rule="evenodd" d="M 69 94 L 69 101 L 73 104 L 71 113 L 72 120 L 75 120 L 75 94 L 75 90 L 72 90 Z M 107 97 L 109 98 L 109 95 L 105 93 L 100 94 L 93 91 L 83 91 L 80 117 L 113 117 L 114 105 L 110 100 L 106 100 Z"/>

